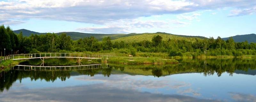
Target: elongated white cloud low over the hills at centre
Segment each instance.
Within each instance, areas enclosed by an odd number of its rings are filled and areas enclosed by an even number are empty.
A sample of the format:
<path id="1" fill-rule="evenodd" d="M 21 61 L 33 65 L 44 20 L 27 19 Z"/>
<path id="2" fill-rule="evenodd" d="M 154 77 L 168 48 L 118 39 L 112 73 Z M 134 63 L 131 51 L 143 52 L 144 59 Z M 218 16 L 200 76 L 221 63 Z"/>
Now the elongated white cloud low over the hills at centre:
<path id="1" fill-rule="evenodd" d="M 189 23 L 179 20 L 141 20 L 141 19 L 124 19 L 105 23 L 102 27 L 82 27 L 76 30 L 90 33 L 131 33 L 134 29 L 159 28 L 169 29 L 181 27 Z"/>

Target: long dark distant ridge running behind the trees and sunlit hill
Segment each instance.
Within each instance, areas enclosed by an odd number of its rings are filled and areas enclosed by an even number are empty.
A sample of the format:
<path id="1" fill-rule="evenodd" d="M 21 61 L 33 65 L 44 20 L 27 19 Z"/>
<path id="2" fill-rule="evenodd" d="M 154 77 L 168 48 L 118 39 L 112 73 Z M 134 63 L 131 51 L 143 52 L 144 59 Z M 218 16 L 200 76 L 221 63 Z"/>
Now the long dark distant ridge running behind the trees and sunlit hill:
<path id="1" fill-rule="evenodd" d="M 38 32 L 34 32 L 34 31 L 30 31 L 30 30 L 26 30 L 26 29 L 20 29 L 20 30 L 15 30 L 13 31 L 14 33 L 20 33 L 22 32 L 22 34 L 24 36 L 29 36 L 32 33 L 33 34 L 46 34 L 46 33 L 38 33 Z M 91 37 L 94 36 L 96 39 L 98 40 L 102 40 L 104 37 L 110 37 L 112 40 L 115 39 L 119 39 L 119 38 L 123 38 L 123 37 L 129 37 L 129 36 L 136 36 L 136 35 L 142 35 L 145 33 L 130 33 L 130 34 L 100 34 L 100 33 L 79 33 L 79 32 L 60 32 L 60 33 L 56 33 L 58 35 L 60 35 L 61 33 L 66 33 L 68 36 L 71 37 L 71 39 L 73 40 L 78 40 L 80 38 L 84 38 L 84 37 Z M 147 33 L 147 34 L 151 34 L 151 35 L 156 35 L 156 34 L 168 34 L 168 35 L 174 35 L 174 34 L 170 34 L 170 33 L 162 33 L 162 32 L 157 32 L 157 33 Z M 176 36 L 180 36 L 180 37 L 185 37 L 185 38 L 200 38 L 200 39 L 204 39 L 205 37 L 202 36 L 186 36 L 186 35 L 176 35 Z"/>

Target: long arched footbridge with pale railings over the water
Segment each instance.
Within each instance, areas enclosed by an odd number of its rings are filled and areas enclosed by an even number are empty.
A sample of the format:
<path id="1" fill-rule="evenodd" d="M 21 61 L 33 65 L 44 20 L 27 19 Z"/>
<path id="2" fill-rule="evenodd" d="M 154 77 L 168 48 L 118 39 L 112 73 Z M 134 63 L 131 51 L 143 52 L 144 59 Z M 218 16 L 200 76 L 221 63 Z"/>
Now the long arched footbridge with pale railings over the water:
<path id="1" fill-rule="evenodd" d="M 96 54 L 81 54 L 81 53 L 34 53 L 34 54 L 19 54 L 8 55 L 7 58 L 12 60 L 25 60 L 40 58 L 44 62 L 44 58 L 78 58 L 78 62 L 84 59 L 109 59 L 114 55 L 96 55 Z"/>

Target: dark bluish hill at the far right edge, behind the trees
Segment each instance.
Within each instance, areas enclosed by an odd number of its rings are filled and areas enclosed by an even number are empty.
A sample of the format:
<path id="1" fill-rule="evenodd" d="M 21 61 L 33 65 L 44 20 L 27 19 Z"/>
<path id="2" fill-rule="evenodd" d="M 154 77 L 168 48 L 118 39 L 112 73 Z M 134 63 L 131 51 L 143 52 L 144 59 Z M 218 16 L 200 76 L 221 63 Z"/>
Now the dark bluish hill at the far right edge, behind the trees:
<path id="1" fill-rule="evenodd" d="M 228 40 L 228 38 L 222 38 L 223 40 Z M 256 34 L 246 34 L 246 35 L 236 35 L 232 36 L 232 38 L 235 40 L 235 42 L 243 42 L 245 40 L 248 41 L 248 43 L 256 42 Z"/>

